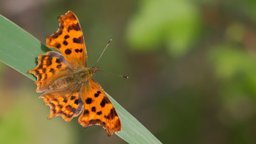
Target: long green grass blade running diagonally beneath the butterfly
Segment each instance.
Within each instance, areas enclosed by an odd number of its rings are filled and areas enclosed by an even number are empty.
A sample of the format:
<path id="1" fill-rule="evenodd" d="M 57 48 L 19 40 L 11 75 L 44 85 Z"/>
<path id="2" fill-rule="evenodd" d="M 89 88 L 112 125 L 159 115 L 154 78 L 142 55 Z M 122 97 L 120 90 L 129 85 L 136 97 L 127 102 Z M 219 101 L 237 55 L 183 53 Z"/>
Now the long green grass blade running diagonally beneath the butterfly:
<path id="1" fill-rule="evenodd" d="M 2 15 L 0 25 L 0 61 L 35 81 L 35 77 L 26 72 L 36 67 L 38 54 L 50 49 Z M 120 138 L 128 143 L 161 143 L 112 97 L 109 98 L 122 121 L 122 131 L 116 133 Z"/>

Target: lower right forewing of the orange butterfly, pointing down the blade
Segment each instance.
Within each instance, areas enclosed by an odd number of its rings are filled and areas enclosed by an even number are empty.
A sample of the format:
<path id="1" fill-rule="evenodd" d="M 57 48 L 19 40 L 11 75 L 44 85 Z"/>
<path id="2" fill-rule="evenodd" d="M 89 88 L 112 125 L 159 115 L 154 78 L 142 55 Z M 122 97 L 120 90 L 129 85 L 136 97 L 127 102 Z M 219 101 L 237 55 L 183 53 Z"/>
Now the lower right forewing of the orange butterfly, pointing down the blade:
<path id="1" fill-rule="evenodd" d="M 84 128 L 90 125 L 101 125 L 108 132 L 108 136 L 121 131 L 121 121 L 116 109 L 100 84 L 90 79 L 82 86 L 81 97 L 84 109 L 79 117 L 79 124 Z"/>

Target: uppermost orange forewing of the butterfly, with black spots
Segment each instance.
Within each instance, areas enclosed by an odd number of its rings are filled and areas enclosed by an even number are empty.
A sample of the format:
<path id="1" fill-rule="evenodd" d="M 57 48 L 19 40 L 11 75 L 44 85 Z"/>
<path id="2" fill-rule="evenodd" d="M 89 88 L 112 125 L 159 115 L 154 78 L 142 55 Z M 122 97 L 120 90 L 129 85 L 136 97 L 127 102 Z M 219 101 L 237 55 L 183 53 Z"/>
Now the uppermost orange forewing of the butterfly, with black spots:
<path id="1" fill-rule="evenodd" d="M 86 67 L 87 52 L 81 26 L 76 15 L 68 11 L 58 17 L 58 31 L 47 36 L 46 45 L 58 49 L 65 60 L 74 67 Z"/>

